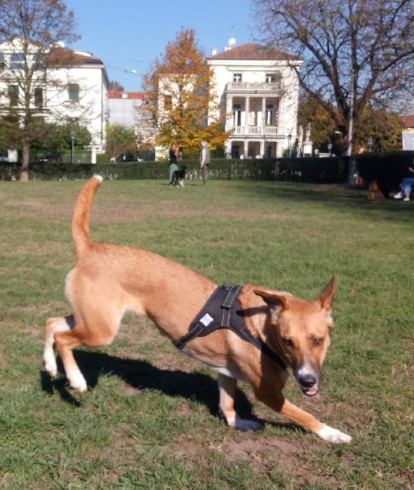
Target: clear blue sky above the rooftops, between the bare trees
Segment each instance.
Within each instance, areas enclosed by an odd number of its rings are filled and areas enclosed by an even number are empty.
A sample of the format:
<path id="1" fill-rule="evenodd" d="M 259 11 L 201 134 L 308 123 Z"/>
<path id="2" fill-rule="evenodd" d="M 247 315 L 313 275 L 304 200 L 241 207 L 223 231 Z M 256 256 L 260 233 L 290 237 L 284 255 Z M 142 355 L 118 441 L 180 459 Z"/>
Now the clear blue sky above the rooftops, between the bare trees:
<path id="1" fill-rule="evenodd" d="M 66 4 L 75 11 L 81 34 L 68 48 L 99 57 L 109 79 L 127 91 L 141 90 L 142 81 L 128 70 L 144 74 L 181 26 L 195 29 L 206 54 L 213 46 L 223 50 L 229 37 L 235 37 L 236 45 L 257 38 L 250 0 L 67 0 Z"/>

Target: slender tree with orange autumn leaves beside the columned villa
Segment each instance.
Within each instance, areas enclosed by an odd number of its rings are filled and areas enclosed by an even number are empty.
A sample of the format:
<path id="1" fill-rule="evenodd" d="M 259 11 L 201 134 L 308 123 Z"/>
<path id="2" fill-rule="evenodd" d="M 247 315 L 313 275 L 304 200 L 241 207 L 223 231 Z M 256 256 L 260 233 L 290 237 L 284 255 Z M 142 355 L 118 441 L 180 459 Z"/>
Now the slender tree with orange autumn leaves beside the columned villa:
<path id="1" fill-rule="evenodd" d="M 228 134 L 219 120 L 213 70 L 193 29 L 181 28 L 168 43 L 144 77 L 144 90 L 141 111 L 157 127 L 156 145 L 175 142 L 184 150 L 198 149 L 203 140 L 212 147 L 224 145 Z"/>

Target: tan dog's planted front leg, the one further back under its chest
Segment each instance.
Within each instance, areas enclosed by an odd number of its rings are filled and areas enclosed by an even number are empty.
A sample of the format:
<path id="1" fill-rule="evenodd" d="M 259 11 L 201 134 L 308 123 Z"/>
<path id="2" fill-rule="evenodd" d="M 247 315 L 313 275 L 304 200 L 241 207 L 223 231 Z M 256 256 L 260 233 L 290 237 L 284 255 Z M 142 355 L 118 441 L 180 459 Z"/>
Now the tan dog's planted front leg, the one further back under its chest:
<path id="1" fill-rule="evenodd" d="M 217 382 L 219 383 L 220 414 L 226 419 L 227 425 L 239 431 L 257 431 L 257 429 L 260 429 L 262 425 L 258 422 L 240 418 L 235 411 L 237 379 L 219 373 Z"/>

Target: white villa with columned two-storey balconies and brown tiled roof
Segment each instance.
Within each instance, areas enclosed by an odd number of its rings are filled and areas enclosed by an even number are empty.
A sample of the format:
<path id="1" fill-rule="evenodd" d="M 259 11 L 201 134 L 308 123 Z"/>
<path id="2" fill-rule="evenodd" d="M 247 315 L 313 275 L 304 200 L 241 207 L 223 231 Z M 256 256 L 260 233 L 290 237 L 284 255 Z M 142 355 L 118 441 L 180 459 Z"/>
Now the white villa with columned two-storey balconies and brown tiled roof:
<path id="1" fill-rule="evenodd" d="M 293 67 L 303 61 L 257 43 L 213 48 L 220 111 L 226 119 L 226 154 L 254 158 L 282 156 L 297 138 L 299 84 Z"/>

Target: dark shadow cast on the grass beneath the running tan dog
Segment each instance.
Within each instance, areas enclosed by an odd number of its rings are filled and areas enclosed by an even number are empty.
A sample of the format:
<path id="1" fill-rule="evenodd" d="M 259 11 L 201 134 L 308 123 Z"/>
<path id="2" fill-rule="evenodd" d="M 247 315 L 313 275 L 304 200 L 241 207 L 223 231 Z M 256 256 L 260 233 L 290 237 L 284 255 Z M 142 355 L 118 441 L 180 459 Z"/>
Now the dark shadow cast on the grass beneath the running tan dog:
<path id="1" fill-rule="evenodd" d="M 94 389 L 97 386 L 101 375 L 118 376 L 130 387 L 137 390 L 153 389 L 161 391 L 167 396 L 177 396 L 200 402 L 208 408 L 210 414 L 219 417 L 217 380 L 206 374 L 197 371 L 188 373 L 179 370 L 159 369 L 146 360 L 119 358 L 95 351 L 75 350 L 74 355 L 79 369 L 86 378 L 89 389 Z M 81 407 L 81 398 L 77 398 L 77 394 L 68 389 L 68 382 L 59 357 L 57 358 L 57 366 L 61 376 L 56 380 L 51 379 L 46 371 L 40 372 L 41 389 L 49 394 L 57 392 L 63 401 L 75 407 Z M 237 413 L 242 418 L 276 427 L 302 429 L 302 427 L 291 422 L 270 422 L 257 418 L 253 414 L 250 400 L 240 389 L 236 391 L 235 406 Z"/>

